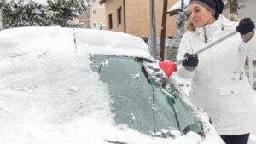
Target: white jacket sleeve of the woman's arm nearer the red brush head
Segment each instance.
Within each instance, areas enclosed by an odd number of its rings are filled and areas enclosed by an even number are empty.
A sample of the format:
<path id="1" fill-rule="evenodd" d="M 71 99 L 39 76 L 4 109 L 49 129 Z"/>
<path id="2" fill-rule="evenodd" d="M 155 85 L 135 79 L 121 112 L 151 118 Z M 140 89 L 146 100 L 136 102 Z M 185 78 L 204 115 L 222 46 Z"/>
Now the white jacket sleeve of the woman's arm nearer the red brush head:
<path id="1" fill-rule="evenodd" d="M 190 53 L 190 54 L 193 53 L 192 48 L 191 48 L 191 43 L 189 41 L 189 32 L 185 32 L 185 34 L 183 35 L 183 38 L 181 40 L 181 43 L 179 45 L 179 49 L 177 52 L 177 61 L 183 60 L 185 53 Z M 194 77 L 195 71 L 189 71 L 189 70 L 185 69 L 184 66 L 179 65 L 179 66 L 177 66 L 177 74 L 181 78 L 189 79 L 189 78 Z"/>

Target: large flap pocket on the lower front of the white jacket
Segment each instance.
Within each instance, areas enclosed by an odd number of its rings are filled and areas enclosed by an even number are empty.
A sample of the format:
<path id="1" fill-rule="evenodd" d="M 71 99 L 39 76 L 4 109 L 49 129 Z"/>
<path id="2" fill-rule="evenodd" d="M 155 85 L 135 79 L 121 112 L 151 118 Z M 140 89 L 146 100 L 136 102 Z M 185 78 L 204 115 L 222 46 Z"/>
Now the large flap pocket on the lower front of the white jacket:
<path id="1" fill-rule="evenodd" d="M 218 114 L 224 123 L 237 124 L 245 120 L 247 115 L 247 102 L 242 94 L 242 89 L 236 85 L 218 88 Z M 233 122 L 233 123 L 232 123 Z"/>

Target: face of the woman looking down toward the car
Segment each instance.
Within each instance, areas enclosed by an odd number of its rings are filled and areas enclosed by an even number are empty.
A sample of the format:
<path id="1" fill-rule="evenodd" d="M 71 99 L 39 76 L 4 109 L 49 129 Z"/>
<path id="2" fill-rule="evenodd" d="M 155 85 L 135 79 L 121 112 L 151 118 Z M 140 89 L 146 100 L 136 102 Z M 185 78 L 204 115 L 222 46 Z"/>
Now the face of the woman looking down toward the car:
<path id="1" fill-rule="evenodd" d="M 212 24 L 215 21 L 212 13 L 197 3 L 192 3 L 189 5 L 189 14 L 190 19 L 195 27 Z"/>

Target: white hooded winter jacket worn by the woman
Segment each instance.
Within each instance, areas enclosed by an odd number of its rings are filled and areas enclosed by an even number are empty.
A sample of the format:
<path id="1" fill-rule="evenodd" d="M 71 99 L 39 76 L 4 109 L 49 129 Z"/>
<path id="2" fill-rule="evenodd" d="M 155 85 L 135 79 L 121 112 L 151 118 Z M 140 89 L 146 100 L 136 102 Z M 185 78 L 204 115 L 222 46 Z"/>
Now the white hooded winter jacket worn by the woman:
<path id="1" fill-rule="evenodd" d="M 236 29 L 238 22 L 220 15 L 211 25 L 187 30 L 178 50 L 177 60 L 184 53 L 194 53 L 207 43 Z M 256 130 L 256 93 L 245 76 L 246 55 L 256 59 L 256 32 L 244 43 L 240 34 L 218 43 L 198 55 L 199 64 L 189 72 L 177 66 L 183 78 L 192 78 L 189 96 L 191 101 L 204 109 L 212 118 L 219 135 L 241 135 Z"/>

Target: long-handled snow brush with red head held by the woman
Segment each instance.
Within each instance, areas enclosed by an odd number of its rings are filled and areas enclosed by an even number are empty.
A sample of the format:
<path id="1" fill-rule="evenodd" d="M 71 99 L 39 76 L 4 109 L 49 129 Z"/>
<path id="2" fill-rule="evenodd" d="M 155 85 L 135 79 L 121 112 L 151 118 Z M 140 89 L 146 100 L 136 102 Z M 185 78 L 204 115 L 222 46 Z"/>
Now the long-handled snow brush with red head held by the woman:
<path id="1" fill-rule="evenodd" d="M 253 20 L 253 22 L 255 23 L 256 20 Z M 203 48 L 195 51 L 194 54 L 198 55 L 203 51 L 206 51 L 207 49 L 212 48 L 213 45 L 220 43 L 222 41 L 224 41 L 225 39 L 235 35 L 236 33 L 238 33 L 236 30 L 233 30 L 231 32 L 229 32 L 228 34 L 224 35 L 223 37 L 218 38 L 217 40 L 213 41 L 212 43 L 208 43 L 206 46 L 204 46 Z M 183 60 L 185 60 L 186 58 L 183 58 Z M 160 68 L 166 73 L 166 76 L 169 78 L 172 75 L 172 72 L 175 70 L 175 68 L 183 63 L 183 60 L 179 60 L 176 63 L 172 62 L 172 61 L 161 61 L 158 63 L 158 65 L 160 66 Z"/>

